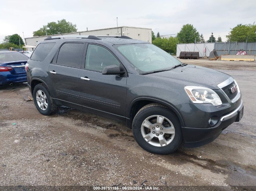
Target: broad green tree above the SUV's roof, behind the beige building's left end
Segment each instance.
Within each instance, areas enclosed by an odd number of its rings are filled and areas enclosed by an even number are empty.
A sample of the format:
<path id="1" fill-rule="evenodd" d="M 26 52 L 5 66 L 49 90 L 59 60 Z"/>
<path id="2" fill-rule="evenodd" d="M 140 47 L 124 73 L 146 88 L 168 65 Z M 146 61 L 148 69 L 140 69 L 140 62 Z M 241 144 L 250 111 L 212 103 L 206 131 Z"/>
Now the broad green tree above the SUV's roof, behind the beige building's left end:
<path id="1" fill-rule="evenodd" d="M 33 36 L 45 36 L 52 34 L 63 34 L 63 33 L 72 33 L 77 32 L 76 24 L 67 22 L 65 19 L 56 22 L 47 23 L 39 30 L 33 32 Z"/>

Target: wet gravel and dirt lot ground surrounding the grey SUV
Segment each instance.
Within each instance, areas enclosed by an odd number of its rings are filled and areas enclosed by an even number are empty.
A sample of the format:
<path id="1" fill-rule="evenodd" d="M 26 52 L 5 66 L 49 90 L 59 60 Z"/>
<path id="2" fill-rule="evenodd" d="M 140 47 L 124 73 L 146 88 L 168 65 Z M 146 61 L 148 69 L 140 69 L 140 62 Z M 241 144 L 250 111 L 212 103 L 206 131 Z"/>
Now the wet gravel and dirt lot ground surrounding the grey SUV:
<path id="1" fill-rule="evenodd" d="M 219 63 L 210 62 L 211 68 Z M 198 65 L 210 65 L 205 63 Z M 26 84 L 0 89 L 0 189 L 101 185 L 256 190 L 256 104 L 251 99 L 256 63 L 246 63 L 245 68 L 239 63 L 239 70 L 221 72 L 238 81 L 244 102 L 241 122 L 229 126 L 207 145 L 182 147 L 169 155 L 143 150 L 130 129 L 110 119 L 68 107 L 43 116 L 33 101 L 23 99 L 23 95 L 30 95 Z M 220 68 L 230 69 L 236 64 L 231 65 Z"/>

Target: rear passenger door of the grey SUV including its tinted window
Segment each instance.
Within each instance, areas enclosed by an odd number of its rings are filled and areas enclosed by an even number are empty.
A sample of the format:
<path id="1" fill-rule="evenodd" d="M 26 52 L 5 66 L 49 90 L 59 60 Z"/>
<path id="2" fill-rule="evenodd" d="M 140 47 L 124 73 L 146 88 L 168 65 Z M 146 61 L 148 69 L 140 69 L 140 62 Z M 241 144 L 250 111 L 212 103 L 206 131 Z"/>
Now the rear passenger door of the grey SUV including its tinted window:
<path id="1" fill-rule="evenodd" d="M 81 109 L 78 73 L 85 43 L 64 43 L 49 66 L 49 80 L 55 99 Z"/>

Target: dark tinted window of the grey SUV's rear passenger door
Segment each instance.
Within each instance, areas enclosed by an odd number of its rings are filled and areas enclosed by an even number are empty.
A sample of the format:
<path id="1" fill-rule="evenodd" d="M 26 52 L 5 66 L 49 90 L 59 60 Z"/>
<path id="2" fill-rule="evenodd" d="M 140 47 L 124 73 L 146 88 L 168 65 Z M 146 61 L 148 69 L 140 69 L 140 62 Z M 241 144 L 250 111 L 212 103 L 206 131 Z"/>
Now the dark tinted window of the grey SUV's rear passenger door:
<path id="1" fill-rule="evenodd" d="M 61 46 L 57 64 L 81 67 L 82 55 L 83 55 L 83 43 L 65 43 Z"/>

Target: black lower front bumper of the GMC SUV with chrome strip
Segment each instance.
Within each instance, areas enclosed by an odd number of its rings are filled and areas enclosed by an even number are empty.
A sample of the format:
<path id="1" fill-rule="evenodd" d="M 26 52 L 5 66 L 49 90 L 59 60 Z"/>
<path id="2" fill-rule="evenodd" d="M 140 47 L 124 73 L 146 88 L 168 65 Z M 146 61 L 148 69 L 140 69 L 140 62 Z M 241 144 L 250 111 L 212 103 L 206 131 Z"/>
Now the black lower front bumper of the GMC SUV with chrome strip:
<path id="1" fill-rule="evenodd" d="M 182 127 L 185 147 L 198 147 L 212 142 L 221 132 L 234 122 L 241 120 L 244 105 L 241 100 L 240 105 L 229 113 L 221 116 L 215 126 L 210 128 Z"/>

